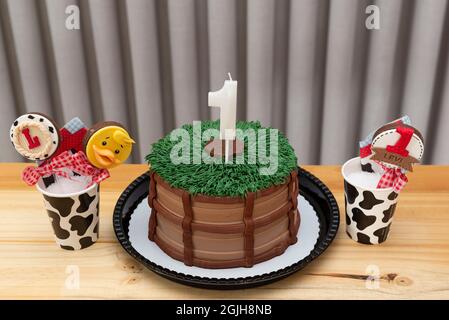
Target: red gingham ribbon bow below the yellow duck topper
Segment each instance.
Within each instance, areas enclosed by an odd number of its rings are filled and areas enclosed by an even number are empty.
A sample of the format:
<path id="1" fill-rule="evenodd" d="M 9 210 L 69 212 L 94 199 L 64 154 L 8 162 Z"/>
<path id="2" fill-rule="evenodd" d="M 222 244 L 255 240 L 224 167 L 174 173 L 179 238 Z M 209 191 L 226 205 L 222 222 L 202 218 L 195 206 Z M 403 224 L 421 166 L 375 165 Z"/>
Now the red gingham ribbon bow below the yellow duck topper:
<path id="1" fill-rule="evenodd" d="M 103 180 L 109 178 L 109 171 L 92 166 L 83 152 L 80 151 L 75 154 L 71 154 L 69 151 L 65 151 L 59 156 L 54 157 L 45 165 L 40 167 L 26 167 L 22 173 L 22 179 L 29 186 L 35 185 L 40 177 L 51 174 L 56 174 L 67 179 L 71 179 L 69 173 L 62 170 L 63 168 L 68 168 L 82 176 L 92 177 L 92 182 L 89 186 L 94 183 L 99 184 Z"/>

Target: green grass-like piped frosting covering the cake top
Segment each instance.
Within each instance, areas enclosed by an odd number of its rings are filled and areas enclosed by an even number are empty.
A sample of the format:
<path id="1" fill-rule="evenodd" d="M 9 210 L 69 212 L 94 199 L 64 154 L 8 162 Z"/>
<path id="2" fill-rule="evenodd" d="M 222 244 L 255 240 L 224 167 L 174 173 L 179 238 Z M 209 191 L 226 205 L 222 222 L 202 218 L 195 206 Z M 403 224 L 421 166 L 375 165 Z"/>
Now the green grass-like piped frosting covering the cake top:
<path id="1" fill-rule="evenodd" d="M 180 128 L 183 130 L 176 129 L 154 143 L 150 154 L 145 159 L 151 164 L 152 170 L 172 187 L 187 190 L 191 194 L 218 197 L 244 197 L 247 192 L 256 192 L 273 185 L 283 184 L 290 172 L 296 169 L 295 152 L 281 132 L 264 128 L 259 122 L 244 121 L 236 124 L 237 137 L 239 137 L 239 131 L 245 134 L 242 136 L 245 144 L 243 163 L 236 163 L 236 159 L 230 164 L 225 164 L 224 159 L 221 159 L 222 163 L 205 163 L 201 160 L 203 159 L 201 151 L 208 142 L 204 134 L 210 133 L 209 129 L 215 129 L 218 132 L 219 127 L 218 120 L 202 121 L 201 128 L 199 128 L 199 122 L 194 125 L 183 125 Z M 195 139 L 200 140 L 193 143 L 194 136 Z M 188 144 L 184 144 L 184 148 L 181 148 L 183 139 L 188 140 Z M 272 141 L 277 141 L 277 146 L 272 144 Z M 194 145 L 197 149 L 196 154 Z M 200 146 L 199 153 L 198 146 Z M 249 155 L 250 149 L 255 151 L 253 156 Z M 173 161 L 172 150 L 179 151 L 178 162 L 184 155 L 181 163 Z M 199 163 L 198 159 L 200 159 Z"/>

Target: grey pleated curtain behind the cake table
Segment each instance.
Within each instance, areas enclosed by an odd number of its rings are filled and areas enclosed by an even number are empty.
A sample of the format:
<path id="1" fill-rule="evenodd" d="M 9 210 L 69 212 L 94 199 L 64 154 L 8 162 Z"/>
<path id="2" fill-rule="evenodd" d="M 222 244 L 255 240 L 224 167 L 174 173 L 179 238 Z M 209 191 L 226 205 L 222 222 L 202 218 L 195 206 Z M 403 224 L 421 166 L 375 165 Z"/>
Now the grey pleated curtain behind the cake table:
<path id="1" fill-rule="evenodd" d="M 65 28 L 71 4 L 80 30 Z M 301 164 L 342 163 L 403 114 L 425 162 L 449 163 L 445 0 L 0 0 L 0 22 L 1 161 L 21 161 L 9 126 L 39 111 L 120 121 L 143 162 L 174 127 L 217 117 L 207 92 L 229 71 L 238 119 L 281 129 Z"/>

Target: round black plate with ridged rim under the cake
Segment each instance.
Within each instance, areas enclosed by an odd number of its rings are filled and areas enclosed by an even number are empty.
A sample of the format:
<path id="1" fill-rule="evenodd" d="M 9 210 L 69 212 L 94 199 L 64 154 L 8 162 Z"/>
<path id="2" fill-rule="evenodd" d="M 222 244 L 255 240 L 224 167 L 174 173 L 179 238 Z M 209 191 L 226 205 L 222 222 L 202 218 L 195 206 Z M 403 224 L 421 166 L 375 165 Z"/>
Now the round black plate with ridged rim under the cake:
<path id="1" fill-rule="evenodd" d="M 268 284 L 285 278 L 304 268 L 312 260 L 322 254 L 332 243 L 337 234 L 340 214 L 334 196 L 317 177 L 299 168 L 299 190 L 313 207 L 319 221 L 319 235 L 312 251 L 305 257 L 299 257 L 295 263 L 268 273 L 238 278 L 211 278 L 180 273 L 151 261 L 151 257 L 144 257 L 133 247 L 129 236 L 130 219 L 138 205 L 146 201 L 150 177 L 148 173 L 135 179 L 117 201 L 113 214 L 114 231 L 122 247 L 137 261 L 148 269 L 170 280 L 209 289 L 239 289 Z"/>

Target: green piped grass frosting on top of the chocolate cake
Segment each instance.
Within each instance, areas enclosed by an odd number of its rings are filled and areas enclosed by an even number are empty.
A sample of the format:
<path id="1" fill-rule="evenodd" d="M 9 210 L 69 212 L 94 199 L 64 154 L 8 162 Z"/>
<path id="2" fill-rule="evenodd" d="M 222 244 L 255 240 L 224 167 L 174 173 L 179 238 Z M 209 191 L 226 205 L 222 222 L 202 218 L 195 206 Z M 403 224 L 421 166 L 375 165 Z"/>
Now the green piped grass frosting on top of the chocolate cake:
<path id="1" fill-rule="evenodd" d="M 202 121 L 201 132 L 207 129 L 219 129 L 220 122 Z M 244 139 L 245 152 L 244 162 L 237 164 L 235 160 L 232 164 L 210 164 L 193 163 L 193 126 L 185 124 L 181 127 L 187 130 L 190 135 L 190 163 L 174 164 L 171 161 L 170 153 L 172 148 L 179 143 L 179 140 L 172 141 L 170 134 L 152 144 L 152 150 L 145 159 L 151 165 L 159 176 L 161 176 L 172 187 L 187 190 L 191 194 L 204 194 L 209 196 L 241 196 L 244 197 L 247 192 L 269 188 L 273 185 L 283 184 L 290 172 L 297 167 L 297 158 L 295 152 L 288 142 L 288 139 L 281 133 L 278 133 L 278 159 L 277 170 L 274 174 L 260 174 L 260 168 L 269 166 L 264 161 L 259 161 L 256 157 L 256 163 L 248 163 L 248 138 Z M 254 129 L 257 133 L 259 129 L 264 128 L 257 122 L 240 121 L 236 124 L 237 129 Z M 270 157 L 270 134 L 266 130 L 266 156 Z M 254 140 L 253 140 L 254 141 Z M 201 142 L 203 150 L 207 141 Z M 258 150 L 258 139 L 255 139 L 256 150 Z M 275 156 L 275 154 L 274 154 Z"/>

